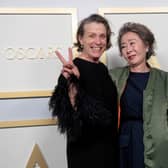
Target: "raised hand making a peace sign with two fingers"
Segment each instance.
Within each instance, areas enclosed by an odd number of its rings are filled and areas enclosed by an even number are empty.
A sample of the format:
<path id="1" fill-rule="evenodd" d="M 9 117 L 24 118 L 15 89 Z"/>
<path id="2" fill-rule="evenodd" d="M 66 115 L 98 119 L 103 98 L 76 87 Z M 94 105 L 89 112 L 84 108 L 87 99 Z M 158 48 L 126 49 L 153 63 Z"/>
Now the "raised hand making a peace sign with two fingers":
<path id="1" fill-rule="evenodd" d="M 63 76 L 66 79 L 68 79 L 73 74 L 77 78 L 79 78 L 79 76 L 80 76 L 79 70 L 78 70 L 78 68 L 73 63 L 72 49 L 68 48 L 68 56 L 69 56 L 69 60 L 68 61 L 66 61 L 64 59 L 64 57 L 62 56 L 62 54 L 58 50 L 56 50 L 55 53 L 58 56 L 59 60 L 63 64 L 63 69 L 62 69 Z"/>

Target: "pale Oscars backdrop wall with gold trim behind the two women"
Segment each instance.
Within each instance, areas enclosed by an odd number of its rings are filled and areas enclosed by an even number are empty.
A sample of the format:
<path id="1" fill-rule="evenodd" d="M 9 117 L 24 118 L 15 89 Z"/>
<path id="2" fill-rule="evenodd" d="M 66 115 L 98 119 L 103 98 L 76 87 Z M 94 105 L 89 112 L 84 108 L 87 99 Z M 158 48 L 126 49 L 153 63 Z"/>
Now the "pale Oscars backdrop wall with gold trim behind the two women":
<path id="1" fill-rule="evenodd" d="M 159 42 L 158 62 L 161 68 L 168 70 L 165 47 L 168 1 L 1 0 L 0 8 L 14 9 L 11 15 L 0 15 L 0 154 L 3 156 L 0 167 L 67 167 L 66 137 L 58 133 L 47 104 L 61 68 L 53 51 L 59 48 L 66 55 L 66 47 L 74 41 L 77 22 L 89 14 L 104 15 L 117 33 L 118 25 L 124 20 L 130 21 L 134 15 L 131 10 L 154 8 L 156 11 L 161 8 L 164 12 L 156 13 L 156 17 L 139 12 L 138 18 L 147 25 L 149 22 L 149 27 L 155 32 Z M 67 15 L 63 13 L 63 19 L 59 21 L 57 14 L 47 15 L 44 11 L 16 15 L 16 8 L 36 11 L 37 8 L 68 8 L 70 12 Z M 107 8 L 117 8 L 120 14 Z M 122 13 L 125 9 L 128 11 Z M 113 37 L 114 47 L 106 53 L 109 68 L 124 64 L 118 57 L 115 39 L 116 36 Z M 113 56 L 117 61 L 113 62 Z"/>

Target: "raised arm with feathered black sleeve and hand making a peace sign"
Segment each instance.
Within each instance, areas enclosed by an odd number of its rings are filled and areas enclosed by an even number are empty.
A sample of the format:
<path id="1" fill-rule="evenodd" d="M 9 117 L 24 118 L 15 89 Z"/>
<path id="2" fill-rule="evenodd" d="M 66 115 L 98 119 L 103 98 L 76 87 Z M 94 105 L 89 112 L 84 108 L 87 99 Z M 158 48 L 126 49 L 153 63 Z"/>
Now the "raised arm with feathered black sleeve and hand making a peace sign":
<path id="1" fill-rule="evenodd" d="M 84 123 L 90 126 L 111 124 L 111 111 L 102 101 L 90 97 L 80 87 L 80 73 L 72 60 L 67 62 L 59 52 L 56 54 L 63 63 L 63 70 L 50 99 L 49 107 L 53 116 L 58 118 L 60 131 L 63 133 L 72 130 L 74 125 L 82 127 Z M 78 132 L 79 130 L 80 128 Z"/>

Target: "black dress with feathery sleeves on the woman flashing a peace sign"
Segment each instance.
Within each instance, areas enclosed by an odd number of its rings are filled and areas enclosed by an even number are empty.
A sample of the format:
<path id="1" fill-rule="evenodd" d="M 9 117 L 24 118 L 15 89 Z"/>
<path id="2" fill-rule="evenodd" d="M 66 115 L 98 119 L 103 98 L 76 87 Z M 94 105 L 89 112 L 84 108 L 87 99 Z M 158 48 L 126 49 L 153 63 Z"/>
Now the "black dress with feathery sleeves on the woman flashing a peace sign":
<path id="1" fill-rule="evenodd" d="M 106 66 L 74 60 L 80 79 L 61 75 L 50 99 L 59 129 L 67 134 L 68 168 L 117 168 L 117 90 Z M 68 86 L 77 87 L 76 110 Z"/>

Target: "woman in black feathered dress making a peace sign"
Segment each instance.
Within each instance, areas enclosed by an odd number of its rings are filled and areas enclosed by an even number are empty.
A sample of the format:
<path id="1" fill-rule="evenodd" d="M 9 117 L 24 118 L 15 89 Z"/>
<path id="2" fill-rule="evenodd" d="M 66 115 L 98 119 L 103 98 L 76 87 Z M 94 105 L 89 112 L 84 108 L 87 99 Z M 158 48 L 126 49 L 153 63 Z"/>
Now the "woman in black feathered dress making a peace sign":
<path id="1" fill-rule="evenodd" d="M 111 46 L 108 22 L 93 14 L 81 21 L 69 60 L 56 51 L 63 70 L 50 99 L 61 133 L 67 135 L 68 168 L 116 168 L 117 90 L 100 57 Z"/>

